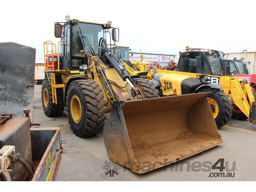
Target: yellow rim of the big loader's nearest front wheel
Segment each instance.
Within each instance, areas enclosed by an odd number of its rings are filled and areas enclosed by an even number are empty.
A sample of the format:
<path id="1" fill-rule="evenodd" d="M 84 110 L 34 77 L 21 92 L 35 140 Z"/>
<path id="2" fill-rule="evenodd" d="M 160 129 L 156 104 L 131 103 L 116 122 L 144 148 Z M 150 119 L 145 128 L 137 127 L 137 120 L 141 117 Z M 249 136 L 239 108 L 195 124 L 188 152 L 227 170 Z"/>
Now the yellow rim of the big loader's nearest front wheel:
<path id="1" fill-rule="evenodd" d="M 82 117 L 82 106 L 77 95 L 73 95 L 70 101 L 70 111 L 73 120 L 78 123 Z"/>

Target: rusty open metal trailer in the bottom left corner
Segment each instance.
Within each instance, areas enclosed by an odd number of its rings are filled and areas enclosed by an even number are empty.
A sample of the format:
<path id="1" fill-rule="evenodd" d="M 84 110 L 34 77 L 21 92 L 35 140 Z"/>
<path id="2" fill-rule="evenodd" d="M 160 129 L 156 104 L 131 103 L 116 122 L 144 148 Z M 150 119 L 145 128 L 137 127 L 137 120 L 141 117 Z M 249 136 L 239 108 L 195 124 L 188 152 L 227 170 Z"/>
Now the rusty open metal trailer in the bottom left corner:
<path id="1" fill-rule="evenodd" d="M 0 181 L 56 179 L 63 153 L 60 129 L 30 129 L 29 121 L 17 117 L 0 124 Z"/>

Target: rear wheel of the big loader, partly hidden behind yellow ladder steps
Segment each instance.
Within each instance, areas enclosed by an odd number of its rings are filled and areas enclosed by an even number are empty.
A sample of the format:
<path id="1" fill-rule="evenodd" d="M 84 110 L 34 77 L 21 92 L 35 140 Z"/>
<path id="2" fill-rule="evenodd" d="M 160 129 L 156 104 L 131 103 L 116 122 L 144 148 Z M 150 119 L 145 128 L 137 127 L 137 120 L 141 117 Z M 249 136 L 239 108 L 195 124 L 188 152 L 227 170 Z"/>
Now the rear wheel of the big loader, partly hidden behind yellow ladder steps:
<path id="1" fill-rule="evenodd" d="M 64 110 L 63 101 L 63 89 L 56 89 L 57 104 L 52 102 L 52 87 L 50 86 L 49 80 L 45 78 L 42 81 L 42 109 L 44 110 L 47 117 L 58 117 L 61 116 Z"/>

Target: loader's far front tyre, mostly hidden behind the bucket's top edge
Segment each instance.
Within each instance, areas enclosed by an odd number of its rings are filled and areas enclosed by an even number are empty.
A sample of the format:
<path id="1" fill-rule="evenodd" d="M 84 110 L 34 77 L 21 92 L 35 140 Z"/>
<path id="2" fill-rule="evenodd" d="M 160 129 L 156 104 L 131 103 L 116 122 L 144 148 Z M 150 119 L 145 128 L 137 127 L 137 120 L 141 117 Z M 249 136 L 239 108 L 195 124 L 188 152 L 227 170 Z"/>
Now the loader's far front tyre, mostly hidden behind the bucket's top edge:
<path id="1" fill-rule="evenodd" d="M 159 97 L 158 90 L 152 81 L 142 78 L 134 78 L 133 81 L 138 86 L 145 98 Z"/>

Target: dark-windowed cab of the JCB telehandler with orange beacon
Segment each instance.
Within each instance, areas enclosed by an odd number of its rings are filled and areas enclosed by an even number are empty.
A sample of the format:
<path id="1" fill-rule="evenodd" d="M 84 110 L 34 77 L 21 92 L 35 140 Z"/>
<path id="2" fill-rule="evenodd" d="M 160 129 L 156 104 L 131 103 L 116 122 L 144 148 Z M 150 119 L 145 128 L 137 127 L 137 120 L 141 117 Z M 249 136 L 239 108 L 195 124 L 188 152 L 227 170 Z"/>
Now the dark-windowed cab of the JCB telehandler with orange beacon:
<path id="1" fill-rule="evenodd" d="M 177 71 L 222 76 L 225 74 L 218 51 L 187 49 L 181 53 Z"/>

